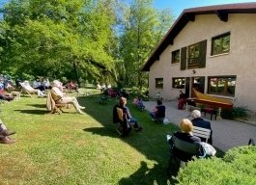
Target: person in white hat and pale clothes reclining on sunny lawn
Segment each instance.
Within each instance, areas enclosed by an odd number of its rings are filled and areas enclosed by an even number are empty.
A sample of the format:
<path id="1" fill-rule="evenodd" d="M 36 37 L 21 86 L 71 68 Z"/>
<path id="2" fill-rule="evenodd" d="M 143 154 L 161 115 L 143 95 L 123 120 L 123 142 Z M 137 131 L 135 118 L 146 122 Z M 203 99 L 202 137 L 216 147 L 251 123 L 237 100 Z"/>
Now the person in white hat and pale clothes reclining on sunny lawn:
<path id="1" fill-rule="evenodd" d="M 52 84 L 52 98 L 56 103 L 59 104 L 72 104 L 76 111 L 80 114 L 84 114 L 81 109 L 85 109 L 85 107 L 82 107 L 79 105 L 77 99 L 73 96 L 66 96 L 64 92 L 60 90 L 61 84 L 58 80 L 54 80 Z"/>

